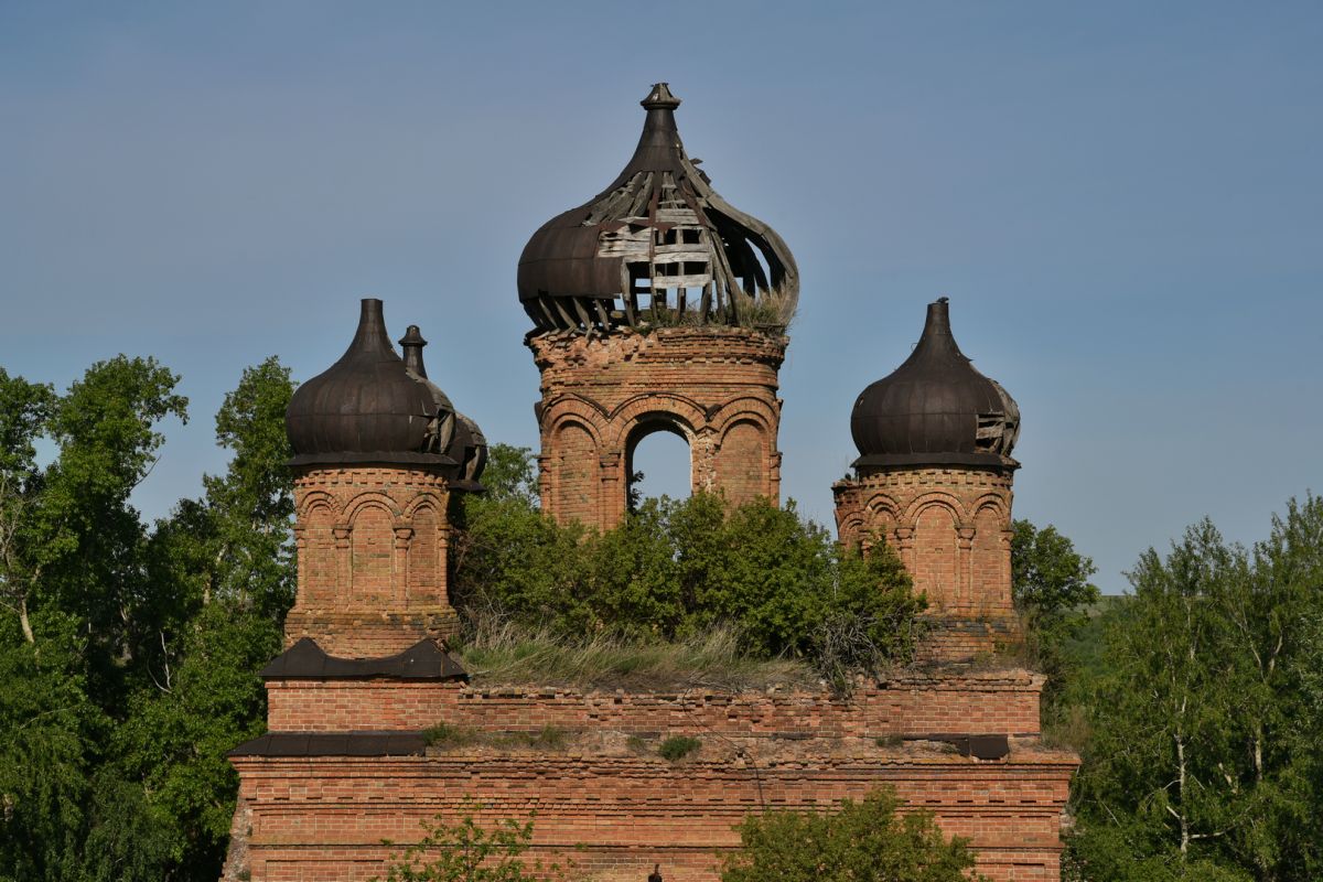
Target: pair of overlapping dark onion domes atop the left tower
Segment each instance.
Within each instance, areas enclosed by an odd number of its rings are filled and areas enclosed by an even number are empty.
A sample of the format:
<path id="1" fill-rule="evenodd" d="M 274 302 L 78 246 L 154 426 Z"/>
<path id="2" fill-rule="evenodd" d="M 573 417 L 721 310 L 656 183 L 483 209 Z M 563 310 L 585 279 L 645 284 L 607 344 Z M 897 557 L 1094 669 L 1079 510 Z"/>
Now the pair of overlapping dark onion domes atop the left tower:
<path id="1" fill-rule="evenodd" d="M 478 489 L 487 442 L 478 426 L 455 411 L 422 364 L 417 325 L 400 341 L 386 335 L 381 300 L 366 299 L 353 342 L 321 374 L 295 390 L 284 413 L 294 448 L 291 465 L 385 463 L 431 465 L 454 485 Z"/>

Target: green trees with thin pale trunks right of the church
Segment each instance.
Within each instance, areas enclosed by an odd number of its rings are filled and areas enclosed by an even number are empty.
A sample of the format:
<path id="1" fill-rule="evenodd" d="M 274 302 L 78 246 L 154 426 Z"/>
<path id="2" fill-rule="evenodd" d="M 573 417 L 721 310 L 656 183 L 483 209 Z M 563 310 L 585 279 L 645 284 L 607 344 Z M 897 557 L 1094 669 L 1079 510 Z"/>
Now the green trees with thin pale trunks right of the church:
<path id="1" fill-rule="evenodd" d="M 1316 878 L 1323 505 L 1248 551 L 1204 521 L 1109 616 L 1069 862 L 1081 879 Z"/>

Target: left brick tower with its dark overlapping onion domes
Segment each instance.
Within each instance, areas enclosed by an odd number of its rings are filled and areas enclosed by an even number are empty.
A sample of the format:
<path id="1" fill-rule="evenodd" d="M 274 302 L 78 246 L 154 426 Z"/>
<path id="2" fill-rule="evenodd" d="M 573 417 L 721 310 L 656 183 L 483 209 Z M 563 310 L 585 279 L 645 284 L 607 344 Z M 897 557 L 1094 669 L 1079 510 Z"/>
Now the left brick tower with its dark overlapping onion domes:
<path id="1" fill-rule="evenodd" d="M 455 631 L 450 493 L 476 487 L 486 442 L 427 380 L 418 328 L 401 344 L 405 358 L 381 300 L 364 300 L 349 349 L 290 402 L 299 583 L 286 645 L 311 637 L 365 659 Z"/>

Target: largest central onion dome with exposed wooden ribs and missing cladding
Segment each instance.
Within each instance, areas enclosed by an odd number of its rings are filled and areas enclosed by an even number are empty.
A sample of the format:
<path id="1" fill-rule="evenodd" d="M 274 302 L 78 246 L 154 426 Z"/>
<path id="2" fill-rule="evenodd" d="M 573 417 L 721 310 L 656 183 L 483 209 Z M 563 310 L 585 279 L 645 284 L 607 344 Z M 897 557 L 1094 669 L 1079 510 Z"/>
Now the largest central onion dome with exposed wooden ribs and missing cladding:
<path id="1" fill-rule="evenodd" d="M 538 331 L 722 324 L 785 328 L 799 270 L 777 231 L 722 200 L 680 143 L 680 99 L 658 83 L 634 157 L 585 205 L 548 221 L 519 259 Z"/>

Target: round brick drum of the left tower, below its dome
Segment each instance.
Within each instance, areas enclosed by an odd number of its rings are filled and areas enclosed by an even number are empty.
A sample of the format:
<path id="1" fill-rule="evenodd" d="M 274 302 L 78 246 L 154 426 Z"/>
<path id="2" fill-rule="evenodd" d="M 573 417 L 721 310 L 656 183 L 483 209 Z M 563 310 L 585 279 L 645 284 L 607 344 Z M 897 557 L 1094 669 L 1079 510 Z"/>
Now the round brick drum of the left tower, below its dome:
<path id="1" fill-rule="evenodd" d="M 299 587 L 286 645 L 370 659 L 456 625 L 447 596 L 450 489 L 433 471 L 316 467 L 294 483 Z"/>

